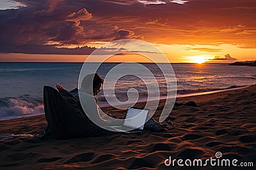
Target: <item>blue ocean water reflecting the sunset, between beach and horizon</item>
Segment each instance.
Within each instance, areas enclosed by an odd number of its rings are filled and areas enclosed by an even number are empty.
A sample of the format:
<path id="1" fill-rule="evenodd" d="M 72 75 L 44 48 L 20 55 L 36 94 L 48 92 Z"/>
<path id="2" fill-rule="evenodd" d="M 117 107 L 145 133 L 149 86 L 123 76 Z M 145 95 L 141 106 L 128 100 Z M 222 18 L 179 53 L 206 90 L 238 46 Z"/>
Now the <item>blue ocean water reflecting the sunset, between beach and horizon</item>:
<path id="1" fill-rule="evenodd" d="M 104 78 L 118 63 L 103 63 L 97 73 Z M 0 63 L 0 120 L 44 114 L 43 87 L 63 85 L 72 90 L 77 87 L 83 63 L 6 62 Z M 143 63 L 157 79 L 161 98 L 166 95 L 166 81 L 156 64 Z M 168 64 L 159 64 L 161 68 Z M 256 67 L 228 66 L 228 64 L 172 64 L 177 81 L 177 96 L 254 85 Z M 136 69 L 136 68 L 132 68 Z M 142 78 L 143 79 L 143 78 Z M 139 100 L 147 100 L 145 82 L 137 76 L 127 75 L 115 84 L 115 95 L 127 101 L 127 91 L 138 90 Z M 107 102 L 101 91 L 97 96 L 99 106 Z"/>

